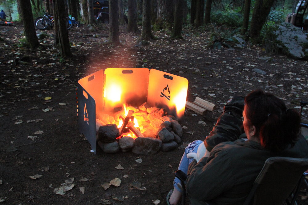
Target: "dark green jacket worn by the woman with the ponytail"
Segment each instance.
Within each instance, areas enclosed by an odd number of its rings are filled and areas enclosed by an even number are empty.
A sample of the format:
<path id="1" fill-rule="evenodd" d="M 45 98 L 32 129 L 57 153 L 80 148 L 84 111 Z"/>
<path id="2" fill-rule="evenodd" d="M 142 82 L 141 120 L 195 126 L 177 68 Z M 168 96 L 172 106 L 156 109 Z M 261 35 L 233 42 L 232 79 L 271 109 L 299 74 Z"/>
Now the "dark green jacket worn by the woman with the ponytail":
<path id="1" fill-rule="evenodd" d="M 307 142 L 301 136 L 294 147 L 275 154 L 251 140 L 218 144 L 209 157 L 188 167 L 192 204 L 243 204 L 265 160 L 273 156 L 308 158 Z"/>

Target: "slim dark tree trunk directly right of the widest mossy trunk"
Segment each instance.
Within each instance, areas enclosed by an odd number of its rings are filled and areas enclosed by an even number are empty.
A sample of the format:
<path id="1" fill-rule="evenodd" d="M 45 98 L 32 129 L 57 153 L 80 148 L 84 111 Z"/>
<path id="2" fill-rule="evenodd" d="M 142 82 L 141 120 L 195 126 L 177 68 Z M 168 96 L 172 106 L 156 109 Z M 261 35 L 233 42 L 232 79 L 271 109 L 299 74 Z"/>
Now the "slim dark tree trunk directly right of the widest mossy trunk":
<path id="1" fill-rule="evenodd" d="M 172 38 L 183 39 L 182 37 L 183 10 L 184 10 L 184 0 L 177 0 L 174 11 L 174 25 L 173 25 Z"/>

